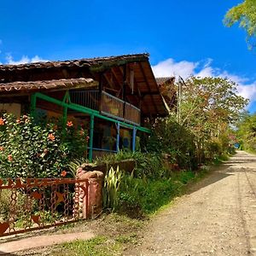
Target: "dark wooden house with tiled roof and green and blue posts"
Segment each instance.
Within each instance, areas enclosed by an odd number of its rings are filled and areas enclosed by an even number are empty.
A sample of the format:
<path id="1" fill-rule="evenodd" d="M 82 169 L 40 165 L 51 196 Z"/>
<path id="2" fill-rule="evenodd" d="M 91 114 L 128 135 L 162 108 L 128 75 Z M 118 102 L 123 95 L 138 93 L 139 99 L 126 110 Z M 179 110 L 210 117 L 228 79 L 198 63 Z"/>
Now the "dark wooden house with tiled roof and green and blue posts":
<path id="1" fill-rule="evenodd" d="M 147 54 L 0 66 L 0 110 L 84 124 L 89 159 L 135 150 L 145 119 L 166 116 Z"/>

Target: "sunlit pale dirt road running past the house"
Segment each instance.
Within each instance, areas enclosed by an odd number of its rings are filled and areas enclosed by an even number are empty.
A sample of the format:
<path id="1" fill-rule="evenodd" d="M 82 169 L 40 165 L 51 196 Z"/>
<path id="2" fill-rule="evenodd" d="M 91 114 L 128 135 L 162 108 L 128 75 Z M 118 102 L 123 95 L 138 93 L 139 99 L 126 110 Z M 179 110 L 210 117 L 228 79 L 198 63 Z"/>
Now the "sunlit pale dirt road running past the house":
<path id="1" fill-rule="evenodd" d="M 239 151 L 192 189 L 125 255 L 256 255 L 256 156 Z"/>

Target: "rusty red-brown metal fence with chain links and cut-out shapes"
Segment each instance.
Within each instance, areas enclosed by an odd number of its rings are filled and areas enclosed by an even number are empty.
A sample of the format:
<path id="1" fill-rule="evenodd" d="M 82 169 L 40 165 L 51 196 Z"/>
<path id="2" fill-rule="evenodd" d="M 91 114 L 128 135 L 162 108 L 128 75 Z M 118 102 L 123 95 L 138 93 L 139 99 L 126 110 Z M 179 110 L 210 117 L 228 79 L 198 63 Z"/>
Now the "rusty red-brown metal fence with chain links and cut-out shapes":
<path id="1" fill-rule="evenodd" d="M 89 218 L 88 189 L 88 179 L 0 179 L 0 236 Z"/>

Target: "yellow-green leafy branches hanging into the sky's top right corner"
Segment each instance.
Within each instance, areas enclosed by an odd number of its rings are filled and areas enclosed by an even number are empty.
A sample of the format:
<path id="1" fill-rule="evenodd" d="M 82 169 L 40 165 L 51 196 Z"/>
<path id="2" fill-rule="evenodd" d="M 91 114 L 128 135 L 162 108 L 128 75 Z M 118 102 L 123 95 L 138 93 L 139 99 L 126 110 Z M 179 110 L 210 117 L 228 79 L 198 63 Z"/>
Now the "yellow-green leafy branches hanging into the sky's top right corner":
<path id="1" fill-rule="evenodd" d="M 249 49 L 253 49 L 256 46 L 256 0 L 244 0 L 226 13 L 225 26 L 233 26 L 236 22 L 247 32 Z"/>

